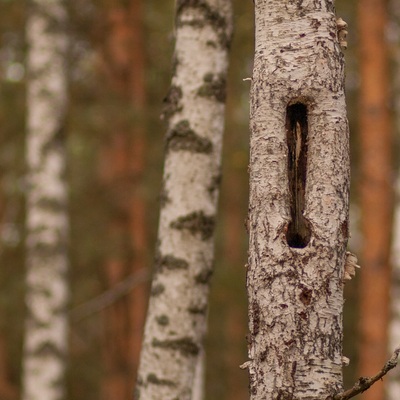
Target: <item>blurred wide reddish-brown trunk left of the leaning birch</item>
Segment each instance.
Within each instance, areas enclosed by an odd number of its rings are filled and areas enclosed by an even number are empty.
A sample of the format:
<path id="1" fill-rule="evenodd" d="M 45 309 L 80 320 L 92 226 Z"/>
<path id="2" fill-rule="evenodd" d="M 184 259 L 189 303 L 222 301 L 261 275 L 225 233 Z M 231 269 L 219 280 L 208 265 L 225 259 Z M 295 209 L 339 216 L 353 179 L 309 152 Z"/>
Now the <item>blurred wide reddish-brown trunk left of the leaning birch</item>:
<path id="1" fill-rule="evenodd" d="M 110 91 L 120 107 L 103 150 L 102 178 L 111 193 L 105 276 L 112 287 L 144 268 L 148 250 L 145 200 L 141 190 L 144 170 L 146 102 L 142 2 L 110 2 L 105 10 L 107 30 L 101 49 L 102 67 Z M 129 399 L 142 342 L 146 288 L 135 290 L 108 308 L 104 321 L 105 377 L 102 398 Z"/>

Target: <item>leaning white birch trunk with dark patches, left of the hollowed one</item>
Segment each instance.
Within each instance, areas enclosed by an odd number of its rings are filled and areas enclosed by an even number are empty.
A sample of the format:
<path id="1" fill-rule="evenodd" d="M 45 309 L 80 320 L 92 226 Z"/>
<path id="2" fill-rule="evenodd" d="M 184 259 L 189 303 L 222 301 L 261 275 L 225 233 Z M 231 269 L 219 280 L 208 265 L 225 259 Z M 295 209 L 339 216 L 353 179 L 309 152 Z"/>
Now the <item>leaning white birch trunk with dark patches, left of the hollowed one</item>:
<path id="1" fill-rule="evenodd" d="M 158 250 L 136 399 L 192 398 L 220 181 L 229 0 L 179 0 Z"/>

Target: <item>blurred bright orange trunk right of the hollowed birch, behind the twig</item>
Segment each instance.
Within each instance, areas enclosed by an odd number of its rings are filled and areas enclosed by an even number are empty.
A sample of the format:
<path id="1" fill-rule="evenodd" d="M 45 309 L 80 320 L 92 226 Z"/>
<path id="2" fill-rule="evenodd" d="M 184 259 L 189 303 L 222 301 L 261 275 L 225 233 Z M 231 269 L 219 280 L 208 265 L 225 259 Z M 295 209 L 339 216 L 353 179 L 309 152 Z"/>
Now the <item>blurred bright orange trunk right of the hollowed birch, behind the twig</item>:
<path id="1" fill-rule="evenodd" d="M 386 1 L 358 3 L 360 37 L 360 205 L 364 237 L 360 280 L 359 374 L 385 363 L 388 345 L 390 241 L 392 226 L 392 139 L 389 70 L 385 39 Z M 384 398 L 376 384 L 363 399 Z"/>

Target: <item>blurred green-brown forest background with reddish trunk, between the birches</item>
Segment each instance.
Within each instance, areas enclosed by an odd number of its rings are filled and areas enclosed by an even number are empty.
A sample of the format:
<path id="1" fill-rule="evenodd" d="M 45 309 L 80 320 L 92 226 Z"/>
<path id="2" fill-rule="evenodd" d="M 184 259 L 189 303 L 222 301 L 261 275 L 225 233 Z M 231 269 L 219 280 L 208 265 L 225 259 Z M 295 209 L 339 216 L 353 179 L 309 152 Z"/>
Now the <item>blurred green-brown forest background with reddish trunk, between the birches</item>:
<path id="1" fill-rule="evenodd" d="M 113 400 L 107 395 L 110 391 L 133 389 L 157 231 L 166 130 L 160 115 L 171 78 L 174 3 L 66 2 L 70 400 Z M 210 400 L 248 397 L 247 373 L 239 365 L 247 359 L 244 221 L 250 83 L 244 79 L 252 73 L 254 6 L 250 0 L 233 3 L 235 33 L 207 338 L 206 398 Z M 338 16 L 349 24 L 345 57 L 353 183 L 359 176 L 355 3 L 336 1 Z M 28 13 L 26 1 L 0 0 L 1 400 L 16 400 L 21 390 Z M 388 35 L 393 54 L 400 49 L 398 30 Z M 350 248 L 357 254 L 359 212 L 357 186 L 353 187 Z M 357 282 L 348 283 L 345 292 L 344 354 L 351 359 L 345 368 L 346 386 L 356 376 Z"/>

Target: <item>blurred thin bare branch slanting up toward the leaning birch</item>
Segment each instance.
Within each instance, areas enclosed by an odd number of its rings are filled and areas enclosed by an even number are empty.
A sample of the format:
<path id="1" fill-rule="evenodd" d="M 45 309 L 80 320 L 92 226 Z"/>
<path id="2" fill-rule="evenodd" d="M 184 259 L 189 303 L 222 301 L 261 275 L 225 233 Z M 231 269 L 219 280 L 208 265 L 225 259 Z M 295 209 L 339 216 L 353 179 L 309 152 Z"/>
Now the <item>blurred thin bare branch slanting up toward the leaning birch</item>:
<path id="1" fill-rule="evenodd" d="M 111 289 L 106 290 L 99 296 L 75 307 L 70 311 L 70 317 L 73 322 L 79 322 L 92 314 L 109 307 L 115 303 L 119 298 L 126 296 L 135 286 L 140 285 L 150 279 L 150 271 L 142 268 L 132 275 L 129 275 L 123 281 L 117 283 Z"/>

